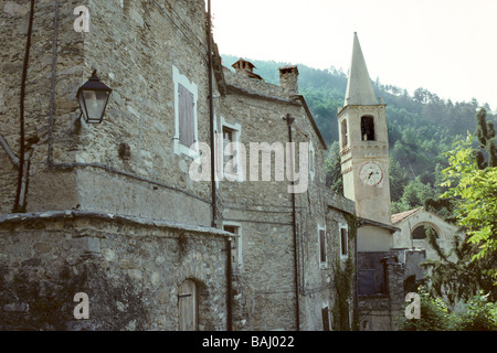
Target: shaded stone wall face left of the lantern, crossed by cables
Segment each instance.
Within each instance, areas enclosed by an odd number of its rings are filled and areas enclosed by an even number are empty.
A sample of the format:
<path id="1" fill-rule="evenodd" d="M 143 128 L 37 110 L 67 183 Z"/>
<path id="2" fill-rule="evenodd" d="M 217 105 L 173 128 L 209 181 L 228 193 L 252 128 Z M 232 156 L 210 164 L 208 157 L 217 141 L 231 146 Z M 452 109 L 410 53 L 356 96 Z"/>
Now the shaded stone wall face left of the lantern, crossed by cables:
<path id="1" fill-rule="evenodd" d="M 83 40 L 73 29 L 73 9 L 78 1 L 61 1 L 59 15 L 57 73 L 54 97 L 53 126 L 54 156 L 57 160 L 74 158 L 75 141 L 68 133 L 71 119 L 76 115 L 75 93 L 83 78 Z M 77 201 L 72 173 L 51 173 L 46 170 L 49 120 L 51 100 L 52 42 L 54 36 L 55 1 L 36 1 L 31 38 L 31 50 L 25 87 L 25 140 L 40 139 L 34 143 L 30 168 L 29 208 L 39 210 L 46 202 L 50 210 L 53 197 L 61 210 L 74 206 Z M 0 133 L 12 151 L 20 151 L 20 98 L 22 68 L 25 54 L 30 3 L 27 1 L 1 1 L 0 22 Z M 27 148 L 27 151 L 29 148 Z M 0 148 L 0 213 L 11 212 L 14 206 L 17 174 Z"/>

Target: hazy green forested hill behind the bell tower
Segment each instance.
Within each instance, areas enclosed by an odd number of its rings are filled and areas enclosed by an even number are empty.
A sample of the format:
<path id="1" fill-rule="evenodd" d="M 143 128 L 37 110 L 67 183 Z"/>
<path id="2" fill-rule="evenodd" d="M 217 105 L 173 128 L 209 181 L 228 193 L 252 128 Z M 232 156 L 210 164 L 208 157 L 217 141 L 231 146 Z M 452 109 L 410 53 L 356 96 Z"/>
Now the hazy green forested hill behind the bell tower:
<path id="1" fill-rule="evenodd" d="M 231 65 L 240 57 L 222 55 L 222 58 L 223 65 L 232 68 Z M 256 66 L 255 73 L 276 85 L 279 84 L 278 68 L 288 65 L 245 58 Z M 298 65 L 298 71 L 300 94 L 305 96 L 330 151 L 336 152 L 337 146 L 334 146 L 334 142 L 338 140 L 337 111 L 343 106 L 347 75 L 341 69 L 324 71 L 305 65 Z M 464 139 L 467 131 L 475 131 L 475 115 L 478 108 L 486 108 L 488 121 L 497 124 L 496 116 L 490 115 L 490 107 L 476 99 L 444 100 L 424 88 L 419 88 L 410 95 L 406 89 L 382 84 L 378 78 L 373 86 L 377 96 L 383 98 L 387 104 L 390 156 L 393 164 L 391 169 L 394 169 L 391 171 L 391 182 L 399 184 L 398 188 L 392 185 L 392 201 L 401 201 L 404 186 L 409 183 L 413 184 L 413 192 L 420 194 L 409 196 L 413 200 L 404 200 L 404 205 L 399 206 L 396 211 L 417 206 L 421 199 L 436 193 L 438 172 L 446 165 L 443 153 L 452 149 L 453 141 Z"/>

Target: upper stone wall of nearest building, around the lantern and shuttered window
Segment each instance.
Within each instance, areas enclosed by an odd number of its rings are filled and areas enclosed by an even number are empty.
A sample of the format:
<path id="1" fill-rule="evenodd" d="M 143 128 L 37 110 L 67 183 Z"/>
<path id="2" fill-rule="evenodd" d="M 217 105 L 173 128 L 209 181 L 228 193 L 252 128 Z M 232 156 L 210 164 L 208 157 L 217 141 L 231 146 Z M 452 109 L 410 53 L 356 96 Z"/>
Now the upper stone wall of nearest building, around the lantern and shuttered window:
<path id="1" fill-rule="evenodd" d="M 76 6 L 89 9 L 88 33 L 74 31 Z M 18 153 L 19 86 L 29 4 L 3 1 L 1 8 L 2 28 L 11 30 L 0 42 L 6 47 L 1 54 L 0 132 Z M 193 183 L 188 175 L 192 159 L 173 152 L 173 67 L 198 86 L 199 140 L 209 138 L 203 2 L 60 1 L 57 14 L 55 26 L 55 1 L 36 2 L 25 92 L 25 138 L 38 136 L 40 141 L 30 168 L 28 211 L 77 206 L 210 225 L 210 185 Z M 97 126 L 76 121 L 76 92 L 94 67 L 114 89 L 105 120 Z M 50 141 L 53 168 L 46 165 Z M 119 157 L 123 143 L 130 148 L 129 158 Z M 4 185 L 0 213 L 8 213 L 13 207 L 17 171 L 3 149 L 0 158 Z M 130 191 L 125 202 L 123 190 Z M 179 212 L 167 212 L 165 200 L 175 200 Z"/>

